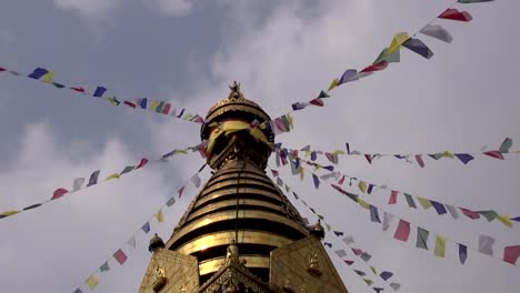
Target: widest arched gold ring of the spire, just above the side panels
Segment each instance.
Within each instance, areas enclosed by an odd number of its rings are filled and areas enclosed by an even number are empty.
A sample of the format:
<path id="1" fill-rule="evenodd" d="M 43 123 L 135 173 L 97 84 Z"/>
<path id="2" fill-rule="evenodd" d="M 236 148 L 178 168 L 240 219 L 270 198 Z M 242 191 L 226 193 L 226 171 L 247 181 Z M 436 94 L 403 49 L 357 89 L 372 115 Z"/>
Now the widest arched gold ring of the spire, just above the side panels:
<path id="1" fill-rule="evenodd" d="M 222 212 L 217 212 L 213 214 L 209 214 L 204 218 L 194 220 L 193 222 L 189 223 L 188 225 L 184 225 L 182 229 L 177 231 L 174 235 L 168 241 L 167 247 L 170 247 L 173 242 L 176 242 L 179 238 L 186 235 L 187 233 L 199 229 L 201 226 L 214 223 L 214 222 L 220 222 L 220 221 L 226 221 L 226 220 L 234 220 L 236 219 L 236 211 L 222 211 Z M 284 225 L 291 226 L 303 234 L 308 234 L 309 232 L 306 230 L 306 228 L 297 224 L 296 222 L 289 220 L 286 216 L 281 216 L 278 214 L 273 214 L 270 212 L 264 212 L 264 211 L 240 211 L 239 212 L 239 219 L 266 219 L 270 220 L 273 222 L 279 222 L 283 223 Z"/>

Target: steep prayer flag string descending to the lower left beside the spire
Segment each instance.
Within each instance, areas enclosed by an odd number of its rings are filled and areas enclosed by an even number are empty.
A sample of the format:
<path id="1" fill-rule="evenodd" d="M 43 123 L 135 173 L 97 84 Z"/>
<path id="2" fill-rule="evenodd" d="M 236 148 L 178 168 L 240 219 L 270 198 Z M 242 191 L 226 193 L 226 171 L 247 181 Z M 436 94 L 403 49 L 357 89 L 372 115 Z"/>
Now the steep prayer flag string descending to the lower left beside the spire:
<path id="1" fill-rule="evenodd" d="M 206 164 L 203 164 L 196 173 L 200 173 L 203 169 L 204 169 Z M 191 176 L 193 178 L 193 176 Z M 182 183 L 182 188 L 184 188 L 190 181 L 191 181 L 191 178 L 186 180 L 183 183 Z M 102 262 L 102 264 L 97 269 L 96 272 L 93 272 L 83 283 L 90 289 L 90 290 L 94 290 L 98 285 L 99 285 L 99 275 L 100 274 L 103 274 L 108 271 L 110 271 L 111 269 L 113 269 L 113 265 L 112 267 L 110 266 L 110 262 L 117 262 L 119 265 L 124 265 L 129 259 L 129 252 L 131 250 L 134 250 L 136 249 L 136 239 L 138 238 L 138 234 L 142 235 L 142 236 L 148 236 L 148 234 L 150 233 L 151 231 L 151 224 L 150 222 L 156 219 L 157 223 L 162 223 L 164 222 L 164 213 L 163 213 L 163 210 L 166 208 L 170 208 L 173 205 L 173 203 L 176 203 L 176 200 L 174 200 L 176 195 L 171 196 L 170 199 L 168 199 L 168 201 L 162 204 L 162 206 L 160 206 L 158 209 L 158 212 L 154 213 L 153 215 L 151 215 L 146 222 L 144 224 L 142 224 L 124 243 L 121 247 L 119 247 L 118 250 L 116 250 L 116 252 L 113 252 L 106 261 Z M 81 291 L 81 286 L 79 286 L 74 292 L 82 292 Z"/>

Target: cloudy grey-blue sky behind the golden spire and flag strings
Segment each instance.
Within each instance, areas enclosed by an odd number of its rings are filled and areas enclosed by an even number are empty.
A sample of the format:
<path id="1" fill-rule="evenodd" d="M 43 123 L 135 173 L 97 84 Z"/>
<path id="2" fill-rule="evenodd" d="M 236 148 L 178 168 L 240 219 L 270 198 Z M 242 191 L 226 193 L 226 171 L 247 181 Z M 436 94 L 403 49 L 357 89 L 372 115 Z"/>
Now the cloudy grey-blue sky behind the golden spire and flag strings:
<path id="1" fill-rule="evenodd" d="M 104 85 L 120 100 L 168 100 L 206 114 L 227 97 L 233 80 L 271 117 L 308 101 L 346 69 L 370 64 L 400 31 L 419 30 L 452 0 L 190 1 L 190 0 L 6 0 L 0 9 L 0 67 L 30 73 L 37 67 L 80 87 Z M 323 108 L 296 112 L 294 129 L 277 137 L 288 148 L 344 148 L 369 153 L 479 152 L 504 138 L 520 140 L 520 101 L 514 97 L 520 65 L 520 2 L 459 4 L 469 23 L 437 20 L 453 36 L 448 44 L 418 36 L 434 52 L 431 60 L 403 49 L 401 62 L 333 91 Z M 0 211 L 50 199 L 57 188 L 101 170 L 100 178 L 199 143 L 196 123 L 112 107 L 106 101 L 58 90 L 8 73 L 0 75 Z M 513 150 L 519 150 L 513 145 Z M 383 158 L 368 164 L 341 156 L 338 170 L 352 176 L 472 210 L 520 215 L 519 159 L 479 156 L 426 160 L 426 168 Z M 326 163 L 326 161 L 322 161 Z M 124 265 L 110 262 L 96 292 L 137 292 L 150 261 L 150 235 L 140 226 L 187 182 L 203 159 L 173 156 L 69 194 L 39 209 L 0 220 L 0 284 L 6 292 L 73 292 L 118 249 Z M 276 168 L 271 160 L 271 168 Z M 370 263 L 394 273 L 400 292 L 513 292 L 519 269 L 499 259 L 503 246 L 520 244 L 518 226 L 498 221 L 453 220 L 434 211 L 388 205 L 388 192 L 366 200 L 421 225 L 430 251 L 382 232 L 359 205 L 326 184 L 281 178 L 336 230 L 352 234 L 370 252 Z M 209 171 L 201 178 L 206 181 Z M 357 192 L 354 188 L 348 189 Z M 197 189 L 151 221 L 167 240 Z M 290 198 L 291 201 L 293 198 Z M 311 222 L 316 216 L 293 202 Z M 496 256 L 469 251 L 461 265 L 454 246 L 432 253 L 436 233 L 477 247 L 480 234 L 497 239 Z M 128 239 L 137 235 L 138 246 Z M 334 249 L 342 243 L 328 233 Z M 351 254 L 351 253 L 350 253 Z M 373 292 L 331 252 L 350 292 Z M 370 273 L 361 261 L 356 269 Z M 372 280 L 377 280 L 371 276 Z M 391 292 L 386 283 L 384 292 Z M 83 290 L 89 292 L 88 289 Z"/>

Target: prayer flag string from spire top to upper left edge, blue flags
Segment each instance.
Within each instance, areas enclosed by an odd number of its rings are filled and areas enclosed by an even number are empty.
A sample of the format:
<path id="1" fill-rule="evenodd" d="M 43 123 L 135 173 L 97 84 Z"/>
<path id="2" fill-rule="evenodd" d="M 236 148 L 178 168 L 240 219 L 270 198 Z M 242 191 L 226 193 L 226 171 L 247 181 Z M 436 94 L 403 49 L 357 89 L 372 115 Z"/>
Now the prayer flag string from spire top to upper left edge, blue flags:
<path id="1" fill-rule="evenodd" d="M 16 72 L 16 71 L 12 71 L 12 70 L 8 70 L 6 68 L 0 68 L 0 72 L 1 71 L 10 72 L 12 75 L 16 75 L 16 77 L 27 77 L 27 78 L 30 78 L 30 79 L 41 81 L 42 83 L 52 84 L 57 89 L 67 88 L 67 89 L 70 89 L 72 91 L 74 91 L 74 92 L 79 92 L 79 93 L 82 93 L 82 94 L 88 94 L 88 95 L 91 95 L 91 97 L 97 98 L 97 99 L 103 98 L 104 100 L 109 101 L 111 104 L 113 104 L 116 107 L 118 107 L 121 103 L 121 101 L 119 101 L 114 95 L 106 94 L 107 93 L 107 88 L 101 87 L 101 85 L 96 87 L 93 92 L 91 92 L 91 91 L 89 91 L 89 90 L 87 90 L 86 88 L 82 88 L 82 87 L 68 87 L 68 85 L 64 85 L 62 83 L 56 82 L 54 81 L 54 72 L 49 71 L 49 70 L 47 70 L 44 68 L 36 68 L 31 73 L 29 73 L 27 75 L 20 74 L 20 73 Z M 128 105 L 128 107 L 130 107 L 132 109 L 137 109 L 136 105 L 139 104 L 140 105 L 139 109 L 150 110 L 150 111 L 156 112 L 156 113 L 170 115 L 172 118 L 178 118 L 178 119 L 182 119 L 182 120 L 199 123 L 199 124 L 204 122 L 204 120 L 199 114 L 188 113 L 184 117 L 182 117 L 182 113 L 184 112 L 184 109 L 182 109 L 181 114 L 176 115 L 176 110 L 172 109 L 171 103 L 167 103 L 164 101 L 152 101 L 151 103 L 149 103 L 150 107 L 148 107 L 148 108 L 147 108 L 147 104 L 148 104 L 147 103 L 147 98 L 137 99 L 137 103 L 132 102 L 132 101 L 123 100 L 123 104 L 126 104 L 126 105 Z M 170 113 L 171 109 L 172 109 L 172 111 Z"/>

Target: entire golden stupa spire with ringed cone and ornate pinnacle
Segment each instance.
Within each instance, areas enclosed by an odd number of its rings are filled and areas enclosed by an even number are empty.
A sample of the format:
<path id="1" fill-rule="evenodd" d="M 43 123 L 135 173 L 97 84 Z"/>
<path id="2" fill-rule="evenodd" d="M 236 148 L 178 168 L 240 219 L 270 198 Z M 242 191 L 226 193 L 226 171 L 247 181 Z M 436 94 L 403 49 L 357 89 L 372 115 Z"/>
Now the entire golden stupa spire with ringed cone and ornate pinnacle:
<path id="1" fill-rule="evenodd" d="M 211 179 L 152 260 L 140 293 L 348 292 L 321 239 L 267 176 L 274 134 L 240 85 L 202 124 Z M 266 124 L 266 123 L 264 123 Z"/>

